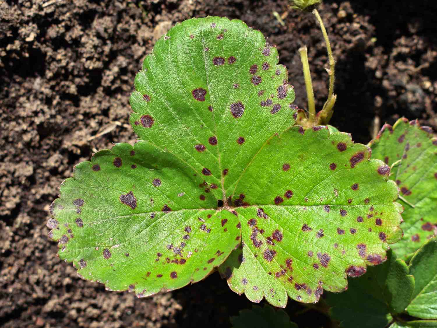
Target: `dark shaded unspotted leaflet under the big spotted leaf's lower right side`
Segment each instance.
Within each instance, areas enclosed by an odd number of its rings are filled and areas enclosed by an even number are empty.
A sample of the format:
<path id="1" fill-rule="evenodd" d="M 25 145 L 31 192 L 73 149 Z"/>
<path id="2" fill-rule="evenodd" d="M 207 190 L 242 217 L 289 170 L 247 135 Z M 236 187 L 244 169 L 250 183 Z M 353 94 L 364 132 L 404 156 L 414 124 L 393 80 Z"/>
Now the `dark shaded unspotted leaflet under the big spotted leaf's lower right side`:
<path id="1" fill-rule="evenodd" d="M 393 314 L 405 311 L 414 289 L 414 278 L 404 261 L 388 251 L 382 265 L 349 282 L 341 294 L 329 293 L 326 302 L 333 306 L 330 315 L 344 328 L 385 327 Z"/>

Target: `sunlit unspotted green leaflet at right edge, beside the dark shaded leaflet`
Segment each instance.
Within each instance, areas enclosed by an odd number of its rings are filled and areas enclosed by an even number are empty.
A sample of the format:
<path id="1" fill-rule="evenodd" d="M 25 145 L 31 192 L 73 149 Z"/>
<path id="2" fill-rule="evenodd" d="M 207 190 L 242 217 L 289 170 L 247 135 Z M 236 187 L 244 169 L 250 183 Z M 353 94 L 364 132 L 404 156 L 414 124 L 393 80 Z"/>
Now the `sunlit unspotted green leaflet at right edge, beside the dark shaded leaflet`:
<path id="1" fill-rule="evenodd" d="M 411 259 L 410 274 L 416 279 L 407 313 L 421 319 L 437 319 L 437 240 L 424 244 Z"/>

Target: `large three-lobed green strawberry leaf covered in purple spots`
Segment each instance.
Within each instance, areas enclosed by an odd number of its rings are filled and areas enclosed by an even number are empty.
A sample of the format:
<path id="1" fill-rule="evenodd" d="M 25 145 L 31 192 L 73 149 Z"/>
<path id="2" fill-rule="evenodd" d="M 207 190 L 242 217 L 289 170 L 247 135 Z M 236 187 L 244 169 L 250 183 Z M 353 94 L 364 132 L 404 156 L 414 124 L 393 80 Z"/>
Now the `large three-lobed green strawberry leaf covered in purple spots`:
<path id="1" fill-rule="evenodd" d="M 402 235 L 388 166 L 346 133 L 291 127 L 294 91 L 277 62 L 242 21 L 170 29 L 135 78 L 139 141 L 94 154 L 61 185 L 47 224 L 59 257 L 142 297 L 229 256 L 232 290 L 281 307 L 384 261 Z"/>

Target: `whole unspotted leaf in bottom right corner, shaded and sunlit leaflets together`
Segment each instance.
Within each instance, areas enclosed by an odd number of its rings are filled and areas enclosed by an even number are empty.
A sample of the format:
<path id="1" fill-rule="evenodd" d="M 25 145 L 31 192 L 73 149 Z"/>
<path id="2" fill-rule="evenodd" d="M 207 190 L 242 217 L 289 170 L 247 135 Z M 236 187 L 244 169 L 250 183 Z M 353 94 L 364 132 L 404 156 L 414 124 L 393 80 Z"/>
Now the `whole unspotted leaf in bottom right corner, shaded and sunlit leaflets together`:
<path id="1" fill-rule="evenodd" d="M 436 327 L 436 320 L 413 319 L 437 319 L 436 272 L 435 238 L 415 253 L 408 267 L 389 251 L 387 262 L 352 280 L 346 292 L 328 294 L 330 315 L 345 328 L 384 327 L 391 321 L 391 328 Z"/>

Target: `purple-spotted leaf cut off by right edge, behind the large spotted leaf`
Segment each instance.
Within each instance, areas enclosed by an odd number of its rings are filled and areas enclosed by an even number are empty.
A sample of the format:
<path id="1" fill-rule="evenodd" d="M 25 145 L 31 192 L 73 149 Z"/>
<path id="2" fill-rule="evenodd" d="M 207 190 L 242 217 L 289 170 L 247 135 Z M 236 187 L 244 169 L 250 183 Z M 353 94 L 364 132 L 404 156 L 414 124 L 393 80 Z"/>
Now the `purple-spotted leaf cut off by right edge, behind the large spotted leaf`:
<path id="1" fill-rule="evenodd" d="M 437 138 L 417 120 L 399 119 L 393 127 L 385 124 L 370 143 L 372 158 L 392 165 L 390 179 L 396 181 L 404 206 L 404 237 L 392 248 L 404 259 L 437 234 Z"/>

